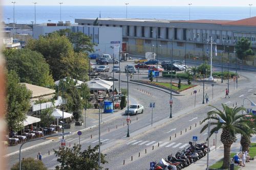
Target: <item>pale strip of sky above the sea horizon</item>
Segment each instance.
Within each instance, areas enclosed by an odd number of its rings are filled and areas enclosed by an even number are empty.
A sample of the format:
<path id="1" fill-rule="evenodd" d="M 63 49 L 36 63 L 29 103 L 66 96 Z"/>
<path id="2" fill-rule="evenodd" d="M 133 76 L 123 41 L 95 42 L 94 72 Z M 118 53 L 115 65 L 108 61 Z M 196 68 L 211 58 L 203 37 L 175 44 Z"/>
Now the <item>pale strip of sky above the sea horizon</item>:
<path id="1" fill-rule="evenodd" d="M 15 5 L 62 5 L 67 6 L 124 6 L 129 3 L 129 6 L 223 6 L 223 7 L 246 7 L 249 4 L 255 4 L 252 0 L 0 0 L 2 5 L 12 5 L 11 2 L 16 2 Z"/>

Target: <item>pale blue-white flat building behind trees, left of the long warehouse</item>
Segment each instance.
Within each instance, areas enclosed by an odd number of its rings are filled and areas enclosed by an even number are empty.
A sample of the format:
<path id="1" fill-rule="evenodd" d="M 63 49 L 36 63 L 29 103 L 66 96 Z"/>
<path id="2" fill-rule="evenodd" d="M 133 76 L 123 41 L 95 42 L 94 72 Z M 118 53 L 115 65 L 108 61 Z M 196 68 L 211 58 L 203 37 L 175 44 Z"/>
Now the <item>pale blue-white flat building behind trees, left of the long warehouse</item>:
<path id="1" fill-rule="evenodd" d="M 122 51 L 122 28 L 118 27 L 99 27 L 99 26 L 34 26 L 33 38 L 38 39 L 39 36 L 45 36 L 49 33 L 59 30 L 70 29 L 72 32 L 82 32 L 91 37 L 91 41 L 95 44 L 94 51 L 99 54 L 110 54 L 118 56 L 114 46 L 119 45 Z M 119 53 L 119 52 L 118 52 Z"/>

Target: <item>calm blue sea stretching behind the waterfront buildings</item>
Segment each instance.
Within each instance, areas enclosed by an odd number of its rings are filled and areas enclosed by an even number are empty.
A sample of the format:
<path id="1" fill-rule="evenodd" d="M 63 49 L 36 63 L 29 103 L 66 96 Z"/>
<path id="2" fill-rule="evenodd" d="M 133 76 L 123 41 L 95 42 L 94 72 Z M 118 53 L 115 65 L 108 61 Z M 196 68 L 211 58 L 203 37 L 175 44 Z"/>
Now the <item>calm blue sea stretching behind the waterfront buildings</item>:
<path id="1" fill-rule="evenodd" d="M 7 18 L 13 22 L 13 6 L 3 6 L 3 20 Z M 62 6 L 61 18 L 63 21 L 74 18 L 125 18 L 125 6 Z M 188 7 L 128 7 L 128 18 L 156 18 L 188 20 Z M 256 7 L 251 7 L 251 16 L 256 16 Z M 249 17 L 249 7 L 191 7 L 191 19 L 227 19 L 237 20 Z M 60 20 L 59 6 L 36 6 L 36 22 L 46 23 L 48 20 Z M 34 6 L 15 6 L 15 20 L 17 23 L 31 23 L 34 21 Z"/>

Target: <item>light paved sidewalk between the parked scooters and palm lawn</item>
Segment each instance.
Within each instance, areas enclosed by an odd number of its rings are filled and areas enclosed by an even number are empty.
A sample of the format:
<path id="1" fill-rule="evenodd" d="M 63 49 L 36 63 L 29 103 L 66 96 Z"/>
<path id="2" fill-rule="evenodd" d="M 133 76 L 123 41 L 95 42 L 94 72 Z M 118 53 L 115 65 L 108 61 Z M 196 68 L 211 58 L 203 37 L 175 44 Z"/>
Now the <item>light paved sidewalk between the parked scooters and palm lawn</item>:
<path id="1" fill-rule="evenodd" d="M 254 135 L 251 138 L 251 142 L 256 142 L 256 136 Z M 234 152 L 239 152 L 240 151 L 240 137 L 238 140 L 231 145 L 231 153 Z M 220 147 L 217 148 L 215 151 L 215 147 L 210 148 L 210 153 L 209 153 L 209 166 L 212 164 L 215 164 L 217 161 L 221 160 L 223 158 L 223 153 L 224 153 L 224 147 L 221 145 Z M 195 164 L 191 164 L 188 167 L 185 167 L 184 169 L 197 169 L 197 170 L 205 170 L 206 169 L 206 162 L 207 162 L 207 155 L 203 157 L 202 159 L 198 160 Z M 256 163 L 254 161 L 250 161 L 246 163 L 245 167 L 240 167 L 240 169 L 243 170 L 251 170 L 251 169 L 256 169 Z"/>

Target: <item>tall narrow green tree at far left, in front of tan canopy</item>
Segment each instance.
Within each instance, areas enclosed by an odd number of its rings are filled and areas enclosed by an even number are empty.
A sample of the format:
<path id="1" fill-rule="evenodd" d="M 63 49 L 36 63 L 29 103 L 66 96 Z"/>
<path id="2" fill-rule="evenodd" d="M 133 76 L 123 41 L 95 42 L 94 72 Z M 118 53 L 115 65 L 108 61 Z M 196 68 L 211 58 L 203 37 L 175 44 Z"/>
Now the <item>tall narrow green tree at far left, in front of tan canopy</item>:
<path id="1" fill-rule="evenodd" d="M 19 77 L 15 71 L 9 71 L 7 75 L 7 123 L 9 130 L 22 130 L 23 121 L 30 108 L 29 100 L 31 91 L 25 85 L 19 83 Z"/>

